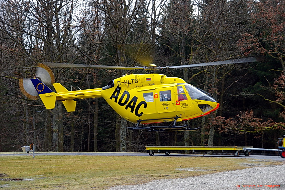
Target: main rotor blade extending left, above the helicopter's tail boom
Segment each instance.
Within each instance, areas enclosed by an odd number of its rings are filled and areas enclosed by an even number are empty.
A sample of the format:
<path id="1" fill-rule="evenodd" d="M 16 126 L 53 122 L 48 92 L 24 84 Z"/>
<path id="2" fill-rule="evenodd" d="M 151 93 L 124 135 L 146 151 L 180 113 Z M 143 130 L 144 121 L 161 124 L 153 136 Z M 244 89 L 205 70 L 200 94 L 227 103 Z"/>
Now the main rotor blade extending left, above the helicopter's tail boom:
<path id="1" fill-rule="evenodd" d="M 42 62 L 48 67 L 80 67 L 80 68 L 98 68 L 98 69 L 122 69 L 122 70 L 133 70 L 133 69 L 146 69 L 146 67 L 122 67 L 122 66 L 107 66 L 107 65 L 84 65 L 74 63 L 53 63 L 53 62 Z"/>

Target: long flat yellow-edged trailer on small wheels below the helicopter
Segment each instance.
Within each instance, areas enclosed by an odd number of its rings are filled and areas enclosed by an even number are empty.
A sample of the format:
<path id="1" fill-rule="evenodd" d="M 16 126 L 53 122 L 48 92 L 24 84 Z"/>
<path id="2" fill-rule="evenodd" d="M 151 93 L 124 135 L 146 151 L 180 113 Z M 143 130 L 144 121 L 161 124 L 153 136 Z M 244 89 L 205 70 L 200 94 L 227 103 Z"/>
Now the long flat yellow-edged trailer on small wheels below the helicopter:
<path id="1" fill-rule="evenodd" d="M 192 152 L 221 150 L 221 152 L 233 152 L 233 155 L 237 157 L 240 152 L 244 152 L 245 156 L 249 156 L 250 150 L 248 148 L 253 148 L 253 146 L 145 146 L 150 156 L 154 155 L 154 150 L 164 152 L 166 156 L 168 156 L 170 152 L 177 150 L 192 150 Z"/>

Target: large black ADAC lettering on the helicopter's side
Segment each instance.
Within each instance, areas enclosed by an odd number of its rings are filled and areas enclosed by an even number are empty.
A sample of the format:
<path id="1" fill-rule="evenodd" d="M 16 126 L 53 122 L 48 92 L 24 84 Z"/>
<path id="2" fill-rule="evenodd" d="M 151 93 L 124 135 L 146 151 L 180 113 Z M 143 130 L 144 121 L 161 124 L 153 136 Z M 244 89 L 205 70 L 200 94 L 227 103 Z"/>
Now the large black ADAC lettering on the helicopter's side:
<path id="1" fill-rule="evenodd" d="M 113 94 L 111 95 L 110 100 L 112 100 L 114 98 L 114 101 L 117 104 L 119 104 L 120 106 L 127 105 L 125 107 L 126 110 L 128 110 L 128 108 L 130 108 L 131 113 L 134 113 L 134 111 L 135 111 L 135 115 L 137 115 L 138 117 L 141 117 L 144 113 L 143 112 L 139 113 L 139 109 L 141 108 L 141 106 L 143 106 L 143 108 L 146 108 L 146 106 L 147 106 L 146 102 L 141 101 L 137 104 L 137 100 L 138 100 L 137 96 L 134 96 L 130 100 L 130 93 L 126 90 L 122 93 L 121 97 L 119 98 L 120 91 L 121 91 L 121 87 L 117 86 L 117 88 L 115 88 Z M 119 98 L 119 100 L 118 100 L 118 98 Z"/>

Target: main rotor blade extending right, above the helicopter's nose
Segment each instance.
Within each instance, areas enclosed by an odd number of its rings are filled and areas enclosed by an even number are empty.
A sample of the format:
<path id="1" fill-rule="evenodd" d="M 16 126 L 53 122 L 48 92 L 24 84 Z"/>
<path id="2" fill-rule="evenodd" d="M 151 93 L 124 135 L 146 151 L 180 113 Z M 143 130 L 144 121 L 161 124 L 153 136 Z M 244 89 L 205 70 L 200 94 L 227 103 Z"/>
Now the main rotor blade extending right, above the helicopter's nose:
<path id="1" fill-rule="evenodd" d="M 188 68 L 188 67 L 201 67 L 201 66 L 211 66 L 211 65 L 226 65 L 226 64 L 236 64 L 236 63 L 248 63 L 248 62 L 256 62 L 256 61 L 262 61 L 262 57 L 247 57 L 247 58 L 241 58 L 241 59 L 231 59 L 226 61 L 214 61 L 209 63 L 197 63 L 192 65 L 179 65 L 179 66 L 167 66 L 167 67 L 160 67 L 161 69 L 164 68 Z"/>

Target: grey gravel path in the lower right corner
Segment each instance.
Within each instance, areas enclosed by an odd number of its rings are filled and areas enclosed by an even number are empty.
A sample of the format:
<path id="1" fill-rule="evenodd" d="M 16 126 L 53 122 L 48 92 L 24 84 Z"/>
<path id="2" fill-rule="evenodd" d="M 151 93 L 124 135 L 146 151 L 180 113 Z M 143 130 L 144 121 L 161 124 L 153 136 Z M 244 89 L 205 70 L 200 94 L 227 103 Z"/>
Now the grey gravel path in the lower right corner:
<path id="1" fill-rule="evenodd" d="M 285 189 L 284 177 L 285 164 L 247 168 L 182 179 L 155 180 L 142 185 L 115 186 L 110 190 Z M 237 185 L 240 185 L 240 187 L 237 187 Z M 260 187 L 260 185 L 262 186 Z M 268 185 L 280 185 L 280 187 L 268 187 Z"/>

